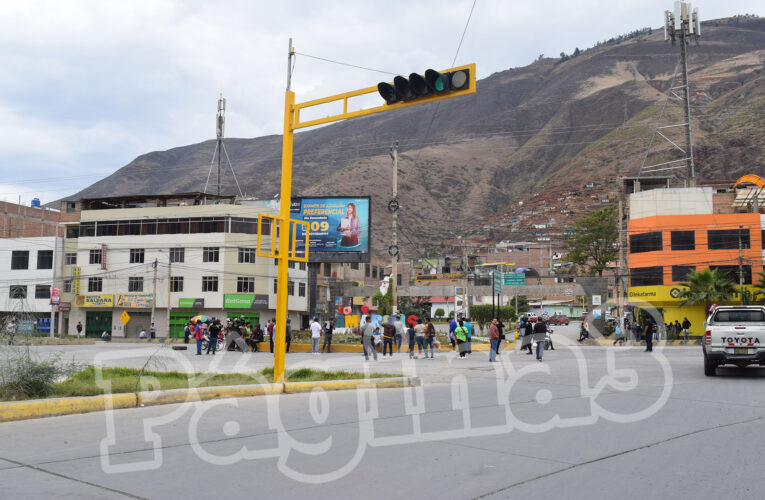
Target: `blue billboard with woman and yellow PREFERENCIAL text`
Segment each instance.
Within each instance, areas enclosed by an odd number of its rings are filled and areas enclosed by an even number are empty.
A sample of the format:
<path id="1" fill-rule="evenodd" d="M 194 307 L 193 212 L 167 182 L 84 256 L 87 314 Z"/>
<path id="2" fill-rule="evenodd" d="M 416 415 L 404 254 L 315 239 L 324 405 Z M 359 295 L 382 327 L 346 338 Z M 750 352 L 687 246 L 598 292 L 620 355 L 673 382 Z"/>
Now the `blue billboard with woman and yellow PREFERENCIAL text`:
<path id="1" fill-rule="evenodd" d="M 369 261 L 368 196 L 293 198 L 290 212 L 293 219 L 309 224 L 311 262 Z M 298 240 L 304 240 L 304 229 L 298 231 Z"/>

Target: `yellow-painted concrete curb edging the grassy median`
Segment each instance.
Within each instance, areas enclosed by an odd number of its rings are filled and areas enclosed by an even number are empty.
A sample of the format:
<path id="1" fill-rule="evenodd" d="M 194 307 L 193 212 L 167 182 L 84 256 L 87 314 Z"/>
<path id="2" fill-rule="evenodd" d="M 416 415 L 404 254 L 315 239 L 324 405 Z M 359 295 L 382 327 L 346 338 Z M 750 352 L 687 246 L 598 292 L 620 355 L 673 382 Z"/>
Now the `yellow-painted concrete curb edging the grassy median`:
<path id="1" fill-rule="evenodd" d="M 102 396 L 35 399 L 0 403 L 0 422 L 33 418 L 73 415 L 123 408 L 140 408 L 165 404 L 206 401 L 224 397 L 241 398 L 271 394 L 297 394 L 320 388 L 339 391 L 348 389 L 416 387 L 419 377 L 391 377 L 354 380 L 318 380 L 315 382 L 285 382 L 283 384 L 225 385 L 192 389 L 168 389 Z"/>

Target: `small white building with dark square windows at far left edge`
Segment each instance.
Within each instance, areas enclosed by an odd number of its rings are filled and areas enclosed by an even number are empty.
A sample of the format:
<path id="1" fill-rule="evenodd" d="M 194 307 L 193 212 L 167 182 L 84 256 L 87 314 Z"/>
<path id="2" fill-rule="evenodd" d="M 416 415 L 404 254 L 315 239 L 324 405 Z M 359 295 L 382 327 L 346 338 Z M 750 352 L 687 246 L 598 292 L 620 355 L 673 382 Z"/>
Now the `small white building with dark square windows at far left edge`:
<path id="1" fill-rule="evenodd" d="M 53 273 L 60 261 L 61 240 L 54 236 L 0 239 L 0 312 L 32 315 L 35 323 L 49 320 Z"/>

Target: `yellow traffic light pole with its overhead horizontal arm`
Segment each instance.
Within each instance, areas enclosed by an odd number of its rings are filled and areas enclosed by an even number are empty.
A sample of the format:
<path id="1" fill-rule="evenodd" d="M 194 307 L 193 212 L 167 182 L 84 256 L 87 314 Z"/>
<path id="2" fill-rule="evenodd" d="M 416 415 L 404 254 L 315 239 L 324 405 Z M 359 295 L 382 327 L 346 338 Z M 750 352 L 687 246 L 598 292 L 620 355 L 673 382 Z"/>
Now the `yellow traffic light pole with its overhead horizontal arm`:
<path id="1" fill-rule="evenodd" d="M 308 259 L 308 228 L 306 227 L 306 243 L 305 243 L 305 256 L 304 258 L 295 258 L 294 246 L 293 255 L 290 255 L 290 238 L 289 228 L 291 224 L 290 220 L 290 208 L 292 202 L 292 144 L 294 141 L 295 130 L 313 127 L 316 125 L 322 125 L 325 123 L 331 123 L 341 120 L 347 120 L 348 118 L 357 118 L 359 116 L 367 116 L 374 113 L 381 113 L 383 111 L 392 111 L 394 109 L 406 108 L 417 104 L 425 104 L 428 102 L 440 101 L 443 99 L 449 99 L 452 97 L 459 97 L 466 94 L 474 94 L 476 91 L 476 76 L 475 76 L 475 64 L 468 64 L 466 66 L 458 66 L 444 70 L 445 72 L 452 72 L 458 70 L 469 70 L 470 83 L 467 88 L 448 92 L 444 94 L 434 94 L 428 97 L 420 97 L 411 101 L 402 101 L 395 104 L 383 104 L 382 106 L 376 106 L 369 109 L 360 109 L 356 111 L 348 111 L 348 99 L 352 97 L 358 97 L 366 94 L 377 93 L 377 87 L 367 87 L 364 89 L 354 90 L 351 92 L 344 92 L 330 97 L 324 97 L 321 99 L 314 99 L 300 104 L 295 104 L 295 93 L 290 90 L 291 78 L 292 78 L 292 58 L 295 55 L 295 51 L 292 47 L 292 39 L 290 39 L 289 52 L 287 56 L 287 91 L 284 96 L 284 137 L 282 142 L 282 183 L 281 191 L 279 195 L 279 221 L 278 229 L 277 224 L 272 225 L 271 238 L 278 237 L 278 252 L 275 258 L 278 260 L 277 274 L 276 274 L 276 327 L 274 329 L 276 338 L 274 339 L 274 382 L 284 382 L 284 354 L 285 354 L 285 338 L 287 331 L 287 280 L 289 279 L 289 261 L 292 260 L 307 260 Z M 336 101 L 343 101 L 343 112 L 335 115 L 326 116 L 315 120 L 309 120 L 305 122 L 300 121 L 300 111 L 313 106 L 319 106 Z M 260 226 L 260 224 L 259 224 Z M 297 230 L 295 231 L 297 232 Z M 260 234 L 260 227 L 258 227 L 258 234 Z M 294 238 L 293 238 L 294 241 Z M 258 244 L 258 254 L 266 255 L 260 252 L 260 244 Z"/>

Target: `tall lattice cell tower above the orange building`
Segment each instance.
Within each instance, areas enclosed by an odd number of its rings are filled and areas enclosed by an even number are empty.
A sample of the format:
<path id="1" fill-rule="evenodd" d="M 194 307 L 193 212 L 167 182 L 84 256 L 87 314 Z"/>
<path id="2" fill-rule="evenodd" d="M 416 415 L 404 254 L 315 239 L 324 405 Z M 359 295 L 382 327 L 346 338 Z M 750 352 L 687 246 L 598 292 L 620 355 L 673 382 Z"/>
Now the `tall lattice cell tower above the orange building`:
<path id="1" fill-rule="evenodd" d="M 680 41 L 680 72 L 682 81 L 680 85 L 675 86 L 675 78 L 672 78 L 672 84 L 667 93 L 667 101 L 665 101 L 664 107 L 662 108 L 659 122 L 656 124 L 654 135 L 651 138 L 648 151 L 646 151 L 646 156 L 643 159 L 643 164 L 640 167 L 638 177 L 647 176 L 647 174 L 655 172 L 671 172 L 673 170 L 684 168 L 686 171 L 687 184 L 690 184 L 691 186 L 696 184 L 696 169 L 693 164 L 693 137 L 691 134 L 691 98 L 688 87 L 688 59 L 686 52 L 691 39 L 698 43 L 700 37 L 701 21 L 699 19 L 699 9 L 691 9 L 690 2 L 675 2 L 674 11 L 664 12 L 664 40 L 671 41 L 673 46 L 675 45 L 675 42 L 678 40 Z M 677 74 L 677 72 L 675 74 Z M 667 104 L 672 99 L 682 102 L 685 112 L 685 123 L 662 125 L 661 122 L 664 118 Z M 662 132 L 662 130 L 679 127 L 685 127 L 685 149 L 678 146 L 677 143 L 672 141 Z M 653 146 L 657 135 L 680 151 L 683 154 L 683 158 L 646 165 L 646 160 L 648 159 L 648 155 L 651 152 L 651 147 Z"/>

